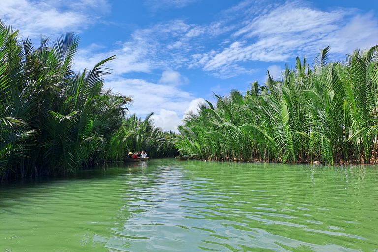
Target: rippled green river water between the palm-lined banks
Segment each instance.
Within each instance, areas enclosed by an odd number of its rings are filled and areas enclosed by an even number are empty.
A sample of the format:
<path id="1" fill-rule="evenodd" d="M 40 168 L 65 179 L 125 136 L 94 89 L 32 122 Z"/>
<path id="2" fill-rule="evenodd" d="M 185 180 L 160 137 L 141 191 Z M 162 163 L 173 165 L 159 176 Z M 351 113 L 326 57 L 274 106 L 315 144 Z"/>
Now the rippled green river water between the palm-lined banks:
<path id="1" fill-rule="evenodd" d="M 157 159 L 0 186 L 0 252 L 378 252 L 378 166 Z"/>

